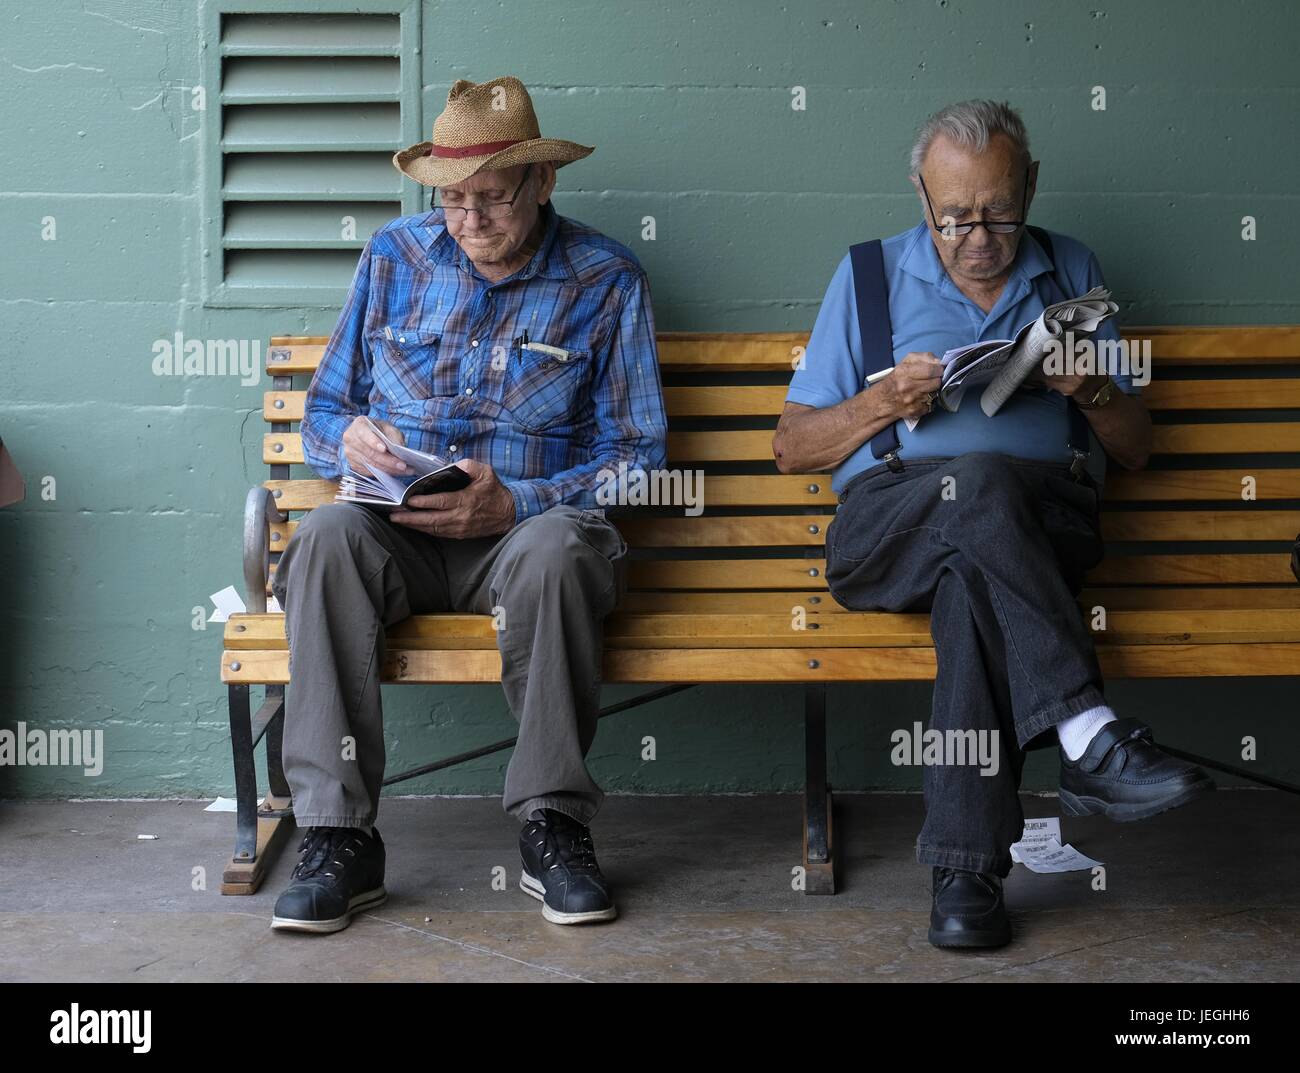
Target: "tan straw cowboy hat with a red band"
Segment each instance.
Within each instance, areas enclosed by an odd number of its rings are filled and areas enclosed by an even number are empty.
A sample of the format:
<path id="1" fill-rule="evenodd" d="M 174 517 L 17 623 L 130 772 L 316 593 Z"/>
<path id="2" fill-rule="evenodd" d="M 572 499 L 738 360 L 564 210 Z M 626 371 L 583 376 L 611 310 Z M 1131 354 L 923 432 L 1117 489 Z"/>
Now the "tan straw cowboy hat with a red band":
<path id="1" fill-rule="evenodd" d="M 433 124 L 433 140 L 393 155 L 393 166 L 425 186 L 452 186 L 476 172 L 554 161 L 562 168 L 594 151 L 592 146 L 542 138 L 528 90 L 517 78 L 474 85 L 460 78 Z"/>

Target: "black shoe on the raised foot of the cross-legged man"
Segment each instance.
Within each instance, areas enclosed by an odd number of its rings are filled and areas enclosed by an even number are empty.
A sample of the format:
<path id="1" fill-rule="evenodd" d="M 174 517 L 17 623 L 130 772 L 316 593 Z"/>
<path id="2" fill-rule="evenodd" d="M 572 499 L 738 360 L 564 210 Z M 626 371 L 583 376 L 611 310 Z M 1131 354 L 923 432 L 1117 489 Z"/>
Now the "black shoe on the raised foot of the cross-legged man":
<path id="1" fill-rule="evenodd" d="M 1106 723 L 1079 760 L 1061 750 L 1061 812 L 1127 822 L 1186 805 L 1214 789 L 1195 763 L 1162 753 L 1139 719 Z"/>

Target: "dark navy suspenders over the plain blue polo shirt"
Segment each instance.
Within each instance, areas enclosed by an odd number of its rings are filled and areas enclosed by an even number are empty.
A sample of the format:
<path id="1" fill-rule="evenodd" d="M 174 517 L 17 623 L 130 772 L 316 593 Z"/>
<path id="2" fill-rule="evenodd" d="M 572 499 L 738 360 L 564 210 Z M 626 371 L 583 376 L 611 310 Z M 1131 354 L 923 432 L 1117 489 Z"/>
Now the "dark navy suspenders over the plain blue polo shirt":
<path id="1" fill-rule="evenodd" d="M 1056 256 L 1052 248 L 1052 237 L 1043 228 L 1026 225 L 1035 242 L 1043 247 L 1048 260 L 1052 263 L 1049 276 L 1062 298 L 1067 295 L 1061 289 L 1061 281 L 1056 274 Z M 858 307 L 858 333 L 862 336 L 862 356 L 866 365 L 866 375 L 880 372 L 893 367 L 893 326 L 889 321 L 889 291 L 885 284 L 884 255 L 880 250 L 880 241 L 859 242 L 849 247 L 849 261 L 853 267 L 853 295 Z M 1088 419 L 1075 404 L 1074 399 L 1066 399 L 1066 411 L 1070 417 L 1070 434 L 1066 446 L 1074 455 L 1070 462 L 1070 473 L 1078 480 L 1084 472 L 1088 460 Z M 890 423 L 871 437 L 871 454 L 889 466 L 893 471 L 902 470 L 898 459 L 898 432 Z"/>

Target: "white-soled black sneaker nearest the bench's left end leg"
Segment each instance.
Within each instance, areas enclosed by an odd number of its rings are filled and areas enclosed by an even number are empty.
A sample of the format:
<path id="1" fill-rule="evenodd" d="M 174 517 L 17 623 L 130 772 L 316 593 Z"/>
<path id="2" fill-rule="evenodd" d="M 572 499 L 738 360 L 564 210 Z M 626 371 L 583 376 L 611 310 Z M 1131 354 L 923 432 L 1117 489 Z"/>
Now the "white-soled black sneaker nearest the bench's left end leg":
<path id="1" fill-rule="evenodd" d="M 382 905 L 384 839 L 358 827 L 308 827 L 292 883 L 276 900 L 270 926 L 342 931 L 352 916 Z"/>

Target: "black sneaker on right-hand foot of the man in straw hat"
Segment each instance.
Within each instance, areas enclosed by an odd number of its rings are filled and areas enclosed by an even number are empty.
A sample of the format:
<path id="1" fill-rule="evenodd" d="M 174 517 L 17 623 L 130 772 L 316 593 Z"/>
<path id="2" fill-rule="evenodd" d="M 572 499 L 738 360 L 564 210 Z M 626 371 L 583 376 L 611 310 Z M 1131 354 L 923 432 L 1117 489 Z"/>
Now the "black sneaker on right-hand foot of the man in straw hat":
<path id="1" fill-rule="evenodd" d="M 555 809 L 534 809 L 519 835 L 519 888 L 551 923 L 612 921 L 618 912 L 595 862 L 592 831 Z"/>

